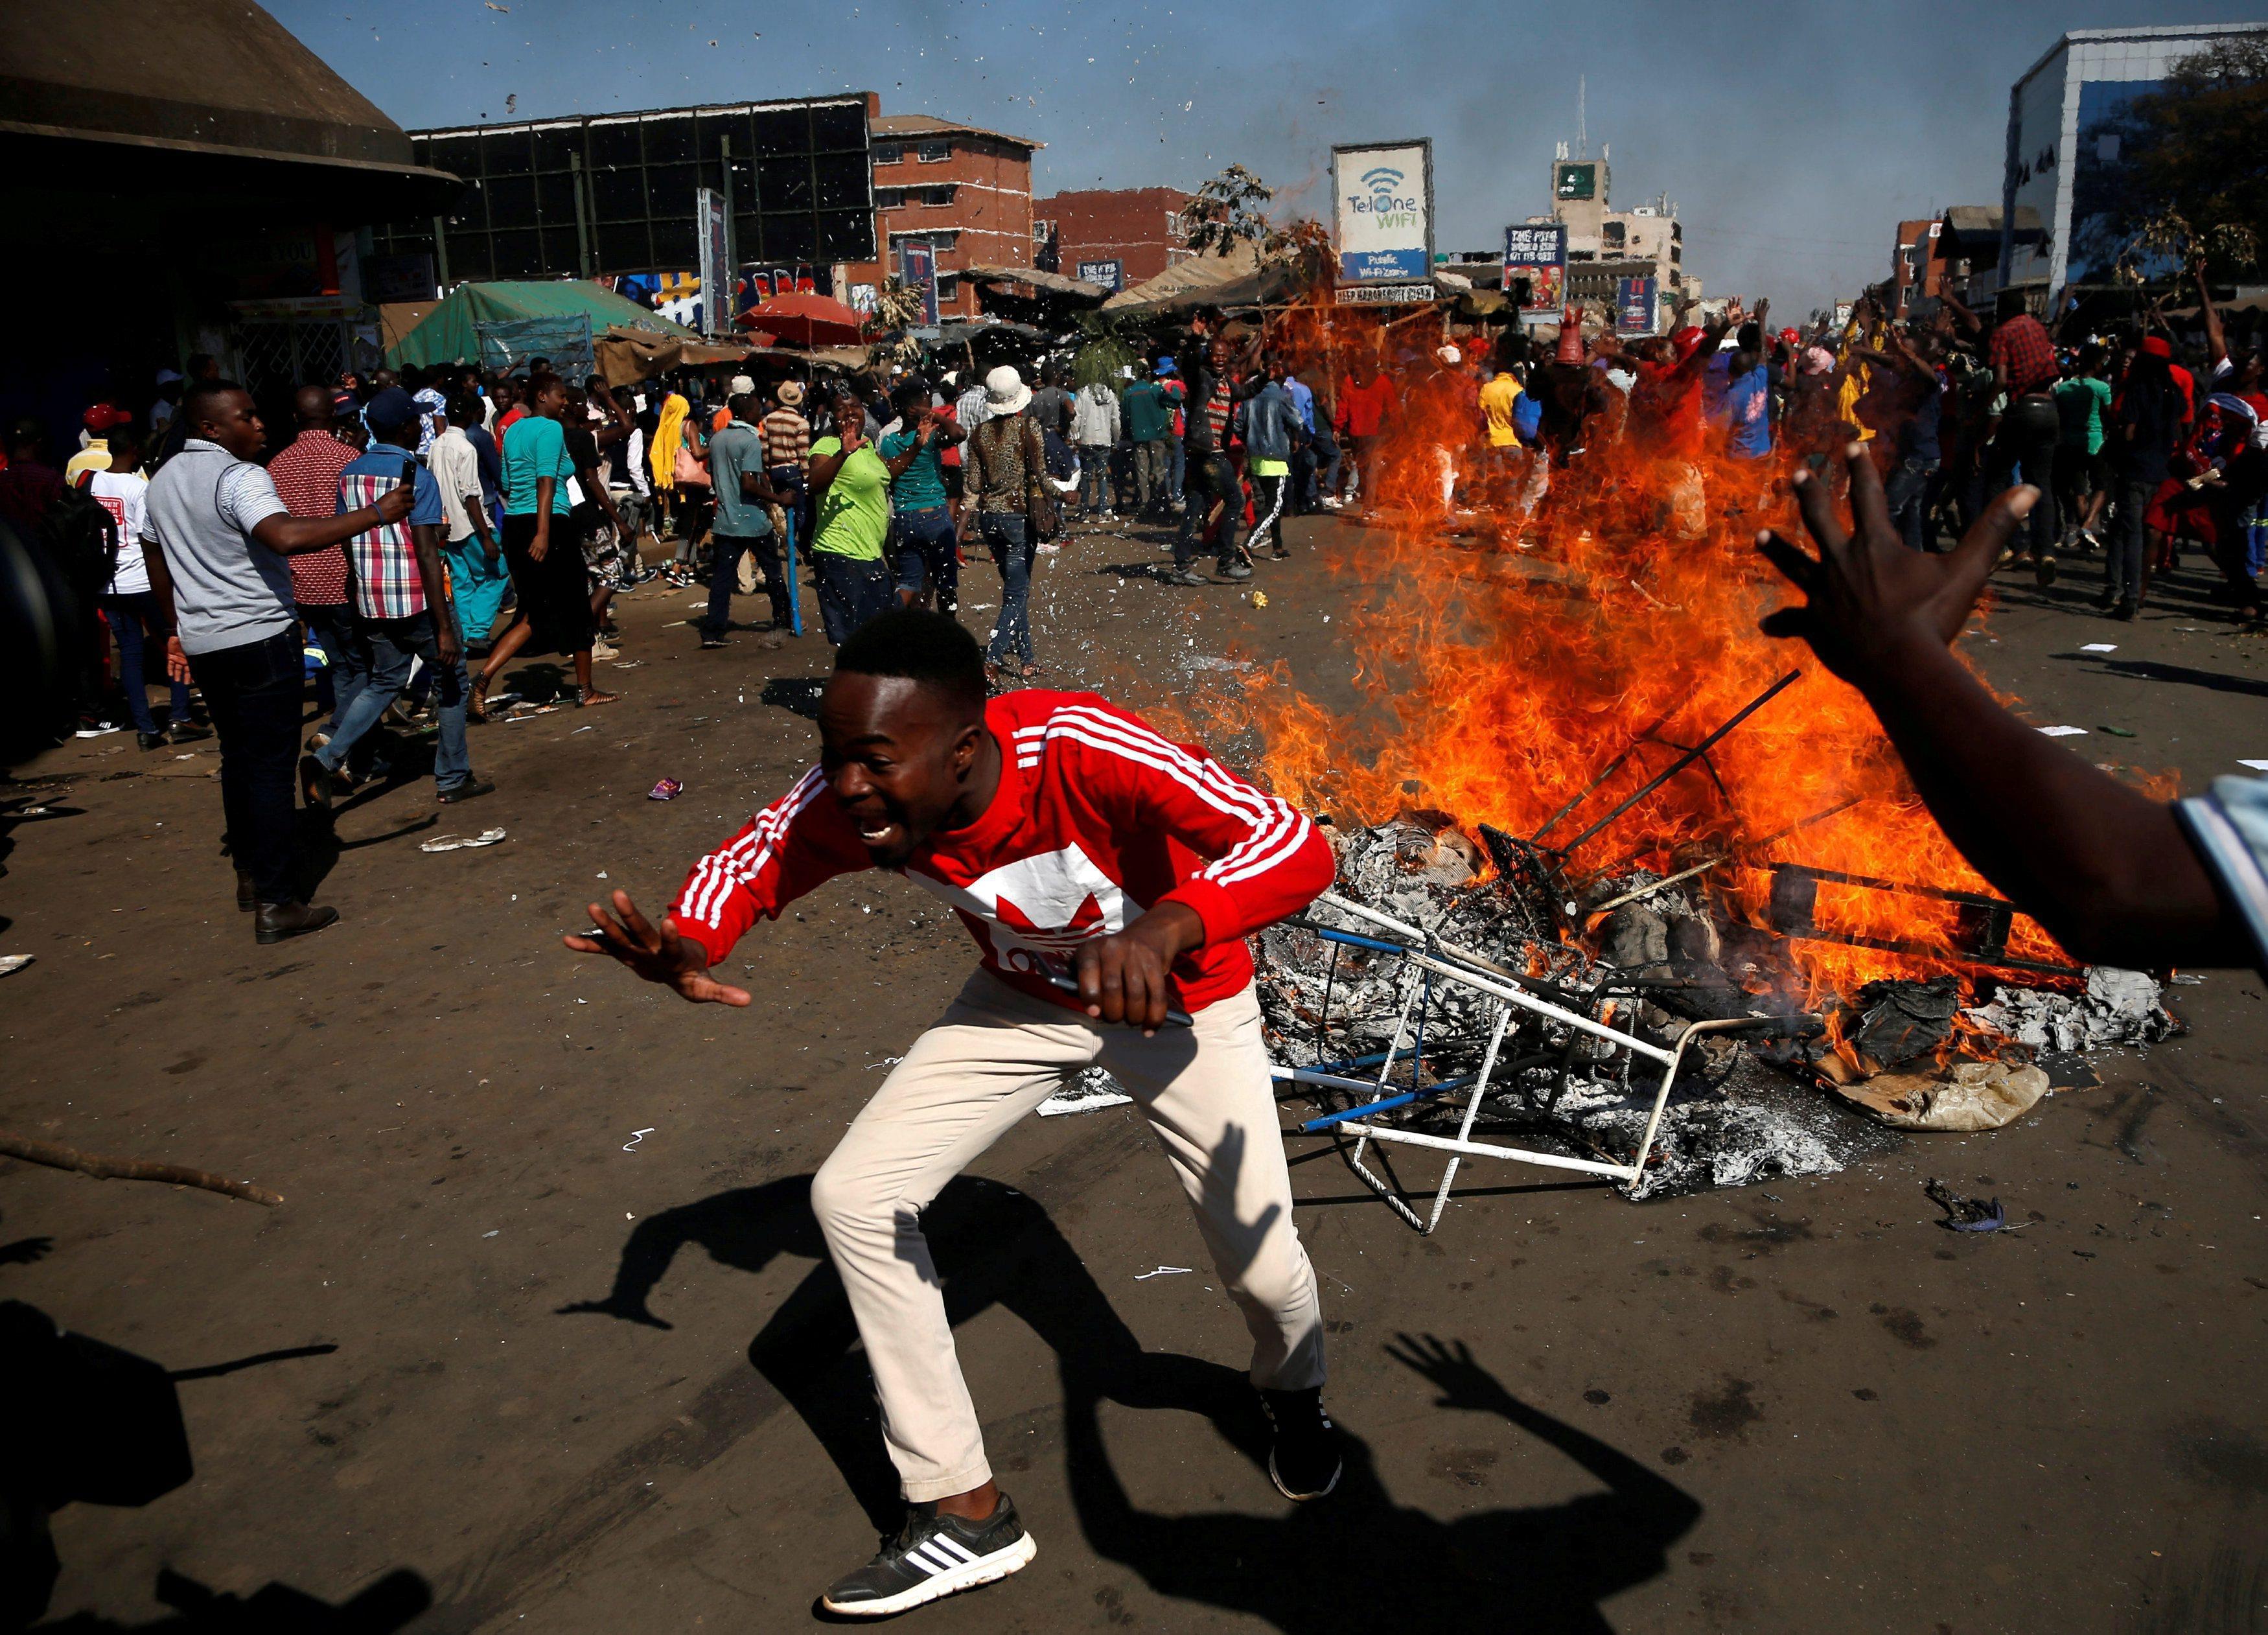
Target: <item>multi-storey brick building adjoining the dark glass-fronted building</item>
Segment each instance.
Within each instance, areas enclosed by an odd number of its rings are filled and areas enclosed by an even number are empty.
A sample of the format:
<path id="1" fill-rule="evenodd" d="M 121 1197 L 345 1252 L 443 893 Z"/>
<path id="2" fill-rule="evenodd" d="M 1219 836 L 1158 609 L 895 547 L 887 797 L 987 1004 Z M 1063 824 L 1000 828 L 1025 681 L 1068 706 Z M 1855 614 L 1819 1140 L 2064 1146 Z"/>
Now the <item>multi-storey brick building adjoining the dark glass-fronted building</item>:
<path id="1" fill-rule="evenodd" d="M 903 277 L 898 252 L 923 240 L 937 254 L 939 315 L 975 317 L 959 268 L 1032 265 L 1032 152 L 1043 143 L 930 113 L 882 113 L 866 129 L 882 261 L 846 268 L 850 299 Z"/>

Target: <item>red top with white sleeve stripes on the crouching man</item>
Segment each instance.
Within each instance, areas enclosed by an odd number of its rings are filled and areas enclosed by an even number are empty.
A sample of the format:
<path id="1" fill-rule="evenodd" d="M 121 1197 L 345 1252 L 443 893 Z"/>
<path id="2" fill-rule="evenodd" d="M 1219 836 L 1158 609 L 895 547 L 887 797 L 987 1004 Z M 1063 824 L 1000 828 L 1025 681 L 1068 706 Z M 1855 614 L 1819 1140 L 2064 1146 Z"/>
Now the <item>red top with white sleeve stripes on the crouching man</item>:
<path id="1" fill-rule="evenodd" d="M 987 971 L 1034 998 L 1075 1007 L 1048 973 L 1070 975 L 1077 943 L 1173 900 L 1204 923 L 1204 948 L 1173 966 L 1182 1005 L 1202 1009 L 1252 982 L 1250 932 L 1331 884 L 1331 844 L 1304 814 L 1129 710 L 1023 687 L 984 721 L 1000 744 L 998 794 L 903 873 L 959 912 Z M 871 866 L 814 766 L 694 864 L 671 914 L 714 964 L 758 918 Z"/>

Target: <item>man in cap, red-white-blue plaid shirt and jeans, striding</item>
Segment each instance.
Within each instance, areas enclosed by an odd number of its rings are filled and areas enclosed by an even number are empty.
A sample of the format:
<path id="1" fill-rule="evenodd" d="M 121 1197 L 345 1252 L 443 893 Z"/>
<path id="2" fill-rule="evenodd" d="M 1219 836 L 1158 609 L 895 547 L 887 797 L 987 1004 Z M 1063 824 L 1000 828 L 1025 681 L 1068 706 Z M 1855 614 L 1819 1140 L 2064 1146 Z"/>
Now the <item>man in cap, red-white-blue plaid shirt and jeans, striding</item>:
<path id="1" fill-rule="evenodd" d="M 474 800 L 497 785 L 472 776 L 465 746 L 472 680 L 465 676 L 465 637 L 456 628 L 456 608 L 449 605 L 440 569 L 449 512 L 433 472 L 411 451 L 417 442 L 417 404 L 411 395 L 392 386 L 370 399 L 365 417 L 370 449 L 338 474 L 338 515 L 372 506 L 379 494 L 404 483 L 413 488 L 411 515 L 347 540 L 370 669 L 349 683 L 352 692 L 342 689 L 338 730 L 299 762 L 299 787 L 308 805 L 331 805 L 331 796 L 347 785 L 347 755 L 408 685 L 413 660 L 424 660 L 435 676 L 433 703 L 440 717 L 433 782 L 445 805 Z"/>

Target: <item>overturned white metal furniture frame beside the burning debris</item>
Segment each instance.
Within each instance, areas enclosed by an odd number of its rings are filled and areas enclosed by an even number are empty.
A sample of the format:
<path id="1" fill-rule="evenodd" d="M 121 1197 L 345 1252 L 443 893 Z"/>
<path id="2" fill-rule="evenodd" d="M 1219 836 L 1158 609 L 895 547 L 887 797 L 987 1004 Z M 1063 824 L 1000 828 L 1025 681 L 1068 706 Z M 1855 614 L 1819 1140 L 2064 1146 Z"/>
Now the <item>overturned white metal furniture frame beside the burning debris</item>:
<path id="1" fill-rule="evenodd" d="M 1390 914 L 1379 914 L 1377 909 L 1365 907 L 1361 903 L 1349 903 L 1336 891 L 1325 891 L 1320 903 L 1340 909 L 1345 914 L 1354 914 L 1356 918 L 1370 921 L 1372 925 L 1395 932 L 1397 937 L 1411 939 L 1413 946 L 1404 952 L 1404 959 L 1408 959 L 1415 968 L 1427 971 L 1436 977 L 1447 977 L 1449 982 L 1461 982 L 1467 989 L 1474 989 L 1497 1000 L 1495 1005 L 1497 1020 L 1488 1034 L 1488 1052 L 1481 1057 L 1481 1073 L 1472 1082 L 1472 1093 L 1465 1100 L 1465 1118 L 1458 1125 L 1454 1138 L 1427 1136 L 1415 1129 L 1395 1129 L 1393 1125 L 1374 1125 L 1363 1120 L 1347 1120 L 1338 1125 L 1340 1129 L 1356 1136 L 1354 1154 L 1349 1159 L 1354 1172 L 1363 1179 L 1365 1186 L 1370 1186 L 1370 1191 L 1383 1197 L 1386 1204 L 1420 1234 L 1431 1234 L 1433 1227 L 1440 1225 L 1440 1213 L 1449 1204 L 1449 1186 L 1452 1181 L 1456 1181 L 1456 1166 L 1463 1163 L 1467 1154 L 1474 1159 L 1517 1159 L 1522 1163 L 1540 1163 L 1554 1170 L 1581 1170 L 1583 1175 L 1603 1175 L 1615 1181 L 1637 1181 L 1647 1172 L 1647 1157 L 1653 1152 L 1653 1136 L 1656 1132 L 1660 1132 L 1662 1109 L 1669 1104 L 1669 1086 L 1678 1077 L 1678 1066 L 1685 1061 L 1687 1045 L 1692 1045 L 1692 1041 L 1701 1034 L 1721 1032 L 1726 1027 L 1746 1027 L 1751 1020 L 1746 1016 L 1730 1016 L 1721 1020 L 1687 1023 L 1685 1030 L 1678 1034 L 1678 1041 L 1669 1048 L 1662 1048 L 1644 1039 L 1637 1039 L 1635 1034 L 1608 1027 L 1606 1023 L 1594 1023 L 1592 1018 L 1581 1016 L 1579 1011 L 1569 1011 L 1563 1005 L 1554 1005 L 1551 1000 L 1535 998 L 1533 993 L 1513 982 L 1504 982 L 1488 973 L 1474 971 L 1461 961 L 1442 959 L 1433 952 L 1427 952 L 1429 946 L 1438 948 L 1438 943 L 1424 930 L 1406 925 L 1404 921 L 1397 921 Z M 1379 1064 L 1377 1084 L 1368 1084 L 1363 1079 L 1343 1079 L 1329 1073 L 1315 1073 L 1311 1068 L 1277 1068 L 1275 1077 L 1295 1079 L 1302 1084 L 1331 1084 L 1338 1088 L 1374 1091 L 1383 1095 L 1388 1088 L 1386 1075 L 1393 1073 L 1393 1066 L 1402 1054 L 1402 1039 L 1408 1032 L 1411 1005 L 1415 1002 L 1417 991 L 1420 984 L 1413 982 L 1411 993 L 1402 1000 L 1402 1016 L 1395 1023 L 1393 1043 L 1386 1048 L 1386 1061 Z M 1565 1027 L 1574 1027 L 1576 1032 L 1590 1034 L 1592 1039 L 1606 1041 L 1610 1045 L 1619 1045 L 1628 1050 L 1633 1057 L 1647 1057 L 1649 1061 L 1662 1064 L 1662 1084 L 1653 1093 L 1653 1111 L 1647 1116 L 1647 1134 L 1640 1138 L 1637 1154 L 1628 1163 L 1603 1163 L 1599 1159 L 1569 1159 L 1558 1152 L 1535 1152 L 1531 1147 L 1499 1147 L 1495 1143 L 1472 1138 L 1472 1120 L 1481 1111 L 1481 1098 L 1488 1095 L 1488 1077 L 1490 1073 L 1495 1073 L 1497 1048 L 1504 1043 L 1504 1034 L 1510 1027 L 1515 1007 L 1531 1011 L 1535 1016 L 1547 1016 Z M 1417 1211 L 1404 1204 L 1395 1195 L 1393 1186 L 1388 1186 L 1383 1179 L 1372 1175 L 1368 1166 L 1363 1166 L 1363 1147 L 1372 1141 L 1395 1141 L 1402 1145 L 1433 1147 L 1438 1152 L 1449 1154 L 1449 1168 L 1440 1177 L 1440 1191 L 1433 1193 L 1431 1218 L 1420 1220 Z"/>

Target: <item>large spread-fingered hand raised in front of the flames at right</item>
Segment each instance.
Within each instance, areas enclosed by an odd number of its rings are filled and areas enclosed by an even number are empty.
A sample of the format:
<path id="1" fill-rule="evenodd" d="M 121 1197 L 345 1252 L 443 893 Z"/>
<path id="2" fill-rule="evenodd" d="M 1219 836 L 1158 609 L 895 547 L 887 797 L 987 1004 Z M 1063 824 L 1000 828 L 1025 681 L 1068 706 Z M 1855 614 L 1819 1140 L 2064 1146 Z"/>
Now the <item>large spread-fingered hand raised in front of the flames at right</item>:
<path id="1" fill-rule="evenodd" d="M 1946 556 L 1910 551 L 1882 503 L 1882 478 L 1864 444 L 1844 449 L 1851 467 L 1853 531 L 1844 531 L 1826 483 L 1796 472 L 1796 508 L 1819 556 L 1765 528 L 1755 549 L 1805 594 L 1762 621 L 1765 635 L 1803 637 L 1819 662 L 1855 687 L 1896 664 L 1916 642 L 1950 646 L 1969 624 L 2016 522 L 2039 501 L 2037 488 L 2000 494 Z"/>

